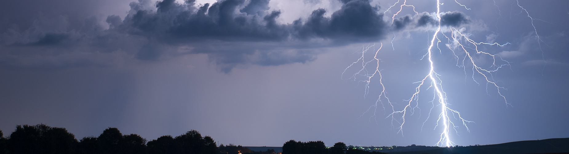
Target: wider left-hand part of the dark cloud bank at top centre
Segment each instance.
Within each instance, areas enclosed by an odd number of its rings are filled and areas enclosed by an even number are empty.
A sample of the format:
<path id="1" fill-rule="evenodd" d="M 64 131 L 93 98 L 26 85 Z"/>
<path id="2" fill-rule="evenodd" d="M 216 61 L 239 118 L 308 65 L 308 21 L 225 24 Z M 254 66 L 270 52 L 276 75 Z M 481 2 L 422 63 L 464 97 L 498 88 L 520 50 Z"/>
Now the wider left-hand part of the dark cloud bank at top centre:
<path id="1" fill-rule="evenodd" d="M 226 0 L 195 8 L 193 1 L 178 4 L 174 0 L 165 0 L 156 4 L 157 11 L 133 10 L 135 13 L 125 18 L 119 30 L 174 41 L 168 43 L 183 39 L 259 41 L 288 37 L 287 27 L 275 22 L 280 11 L 273 11 L 263 17 L 257 13 L 238 13 L 238 7 L 245 6 L 245 2 Z M 251 1 L 245 8 L 250 12 L 265 11 L 255 10 L 265 9 L 258 7 L 258 3 L 263 2 Z"/>

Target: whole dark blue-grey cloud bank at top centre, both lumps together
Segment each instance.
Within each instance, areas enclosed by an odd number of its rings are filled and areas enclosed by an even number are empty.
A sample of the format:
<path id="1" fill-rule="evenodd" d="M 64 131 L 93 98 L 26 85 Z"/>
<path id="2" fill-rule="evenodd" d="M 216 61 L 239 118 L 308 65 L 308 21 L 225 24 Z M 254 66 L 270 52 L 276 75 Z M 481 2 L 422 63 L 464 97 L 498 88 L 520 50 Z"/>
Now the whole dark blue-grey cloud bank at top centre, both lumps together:
<path id="1" fill-rule="evenodd" d="M 225 41 L 284 41 L 325 38 L 344 42 L 353 38 L 378 40 L 385 23 L 378 7 L 368 1 L 347 1 L 340 10 L 324 17 L 325 9 L 312 12 L 308 19 L 292 25 L 275 21 L 281 11 L 267 11 L 268 1 L 226 0 L 194 8 L 173 0 L 158 2 L 157 11 L 133 10 L 119 27 L 130 34 L 160 39 L 218 39 Z M 244 6 L 239 12 L 239 7 Z M 136 9 L 136 8 L 133 8 Z M 262 16 L 260 16 L 262 15 Z M 115 18 L 115 17 L 113 17 Z"/>

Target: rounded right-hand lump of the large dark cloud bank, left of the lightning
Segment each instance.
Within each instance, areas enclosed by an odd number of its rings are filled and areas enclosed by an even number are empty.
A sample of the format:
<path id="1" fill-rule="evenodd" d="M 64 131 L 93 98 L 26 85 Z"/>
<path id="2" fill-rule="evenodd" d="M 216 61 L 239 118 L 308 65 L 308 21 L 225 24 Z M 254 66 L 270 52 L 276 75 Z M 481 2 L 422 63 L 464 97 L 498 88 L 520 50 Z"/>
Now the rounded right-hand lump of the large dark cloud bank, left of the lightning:
<path id="1" fill-rule="evenodd" d="M 362 42 L 379 40 L 385 34 L 383 14 L 378 14 L 378 7 L 372 7 L 367 1 L 342 1 L 345 4 L 335 11 L 330 18 L 324 17 L 326 10 L 318 9 L 306 22 L 300 19 L 294 22 L 298 38 L 330 38 L 336 42 Z"/>

